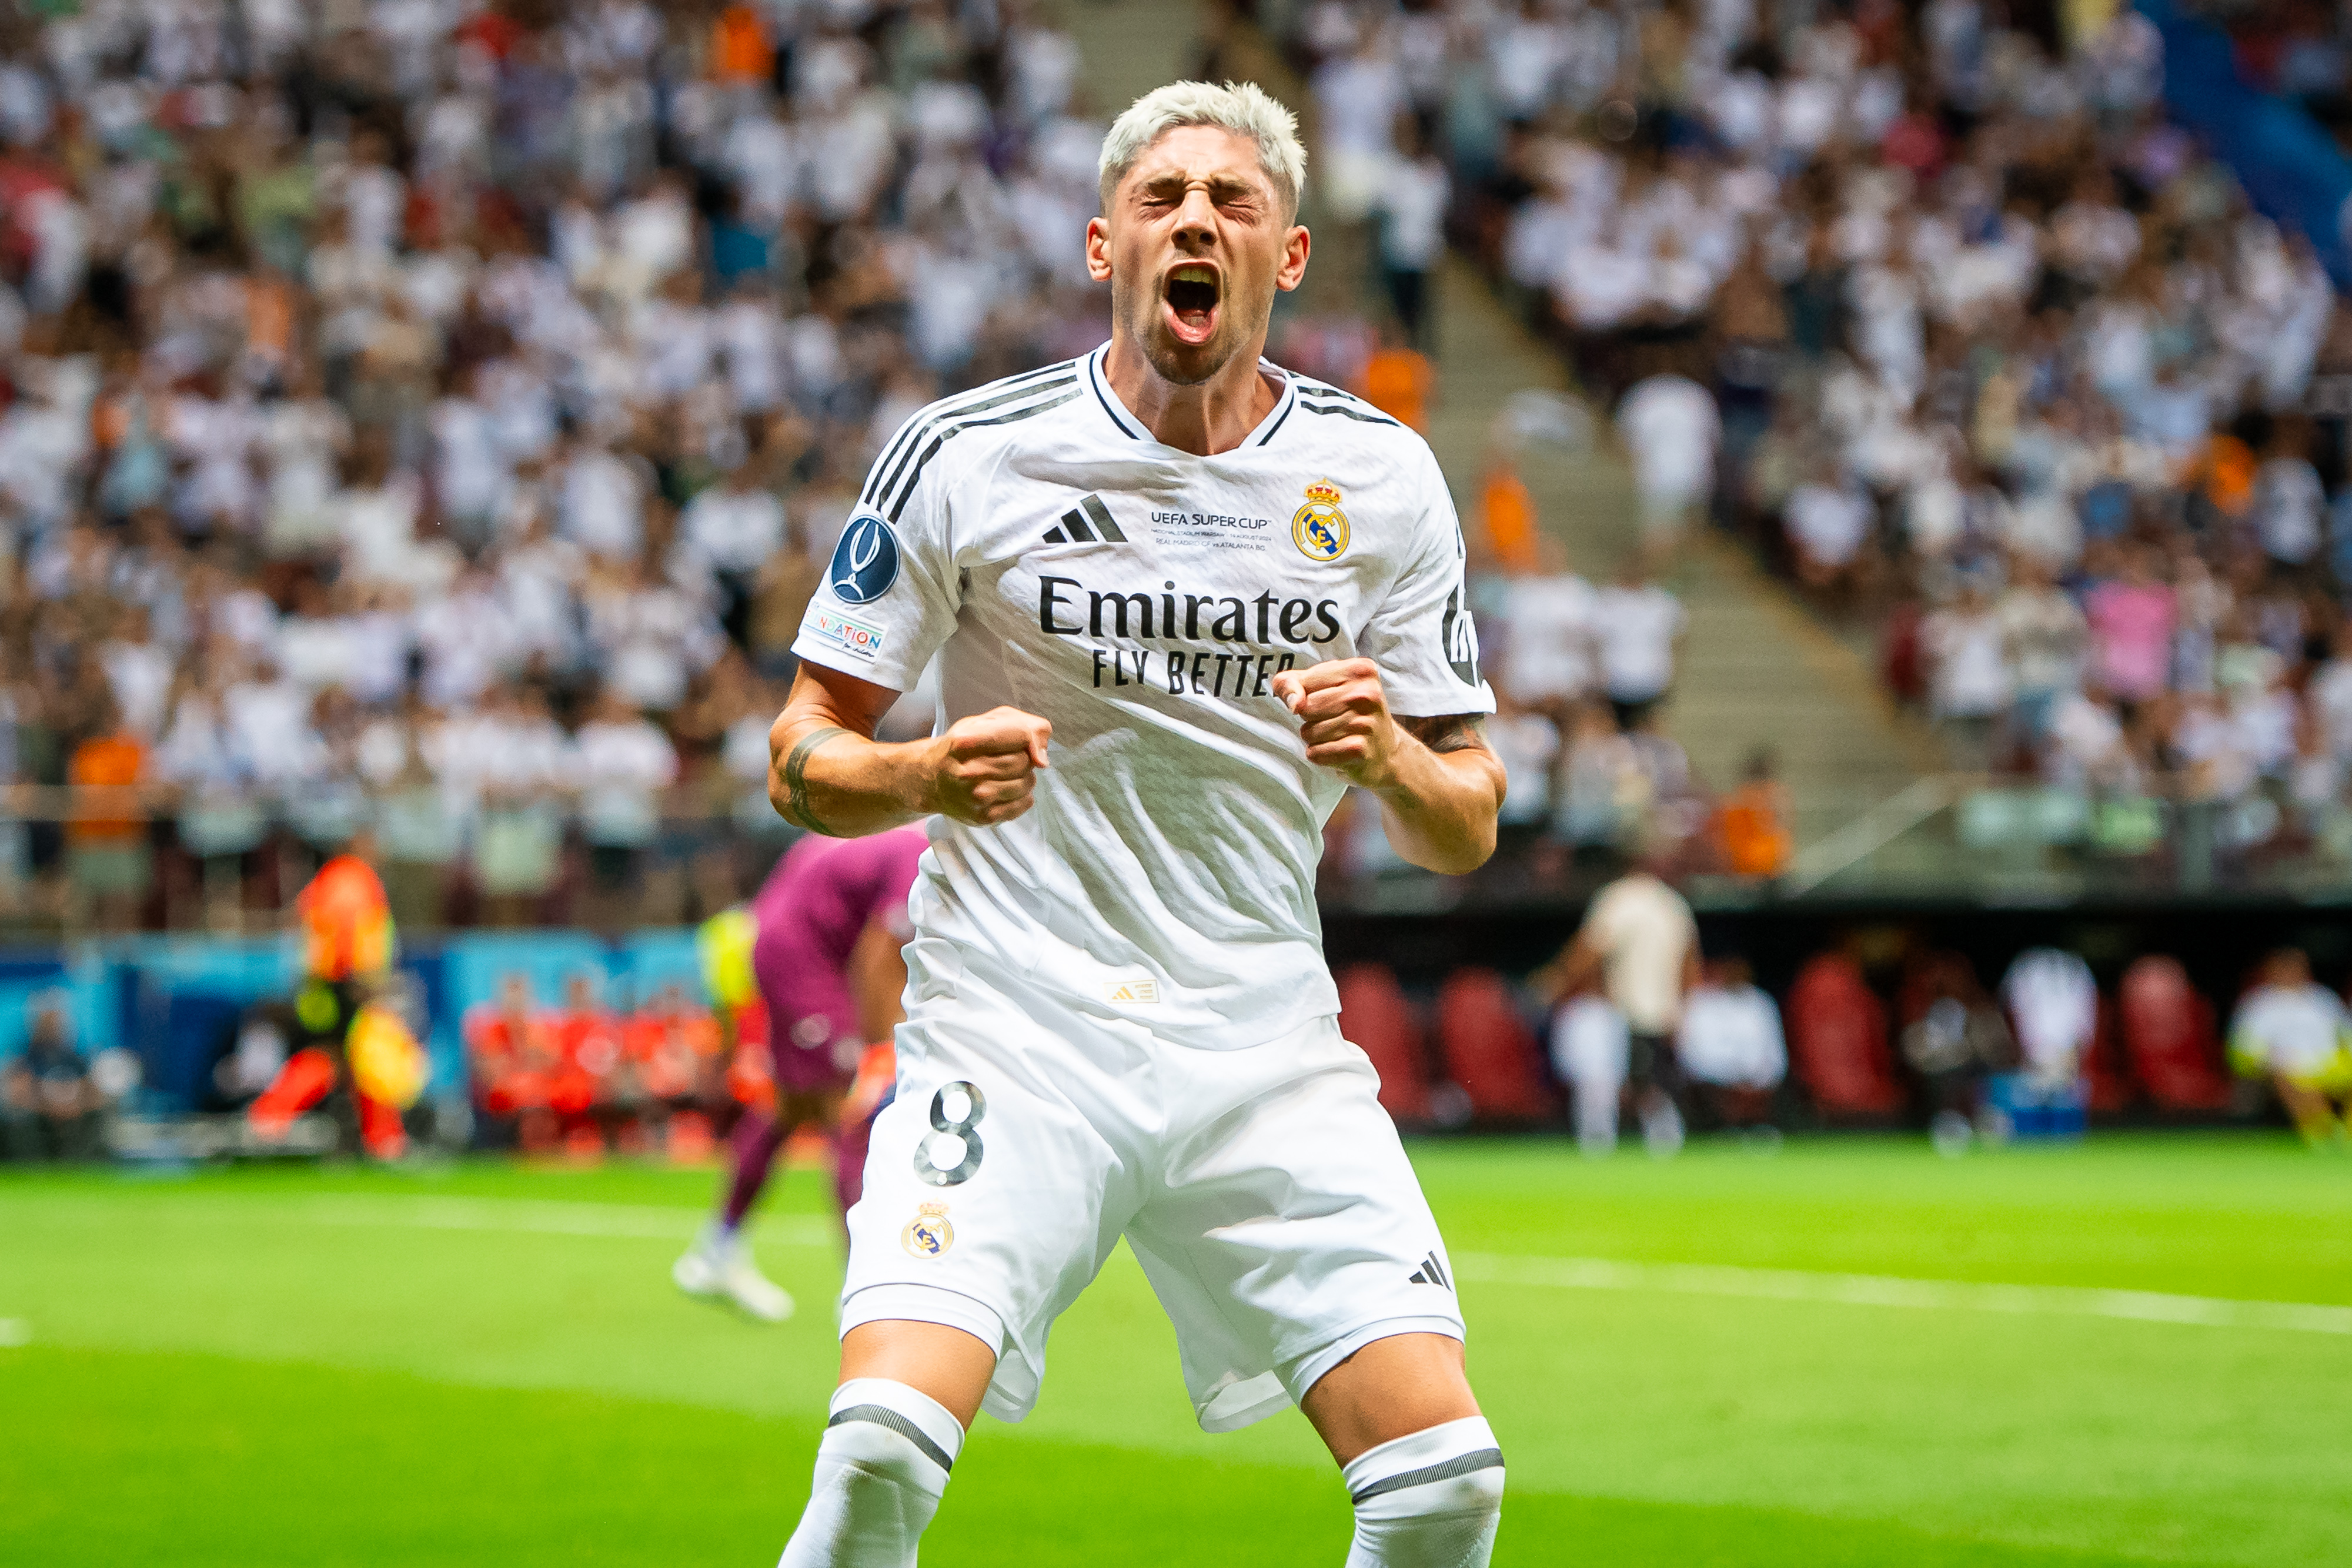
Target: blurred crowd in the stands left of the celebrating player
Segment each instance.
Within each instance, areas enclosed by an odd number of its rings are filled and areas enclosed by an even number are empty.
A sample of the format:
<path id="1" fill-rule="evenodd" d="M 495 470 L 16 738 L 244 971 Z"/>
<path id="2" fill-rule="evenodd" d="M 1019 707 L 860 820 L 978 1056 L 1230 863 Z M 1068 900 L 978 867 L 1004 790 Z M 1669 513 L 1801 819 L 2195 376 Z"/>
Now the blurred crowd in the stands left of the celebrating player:
<path id="1" fill-rule="evenodd" d="M 731 903 L 877 442 L 1108 336 L 1080 113 L 1023 0 L 9 12 L 0 898 Z"/>

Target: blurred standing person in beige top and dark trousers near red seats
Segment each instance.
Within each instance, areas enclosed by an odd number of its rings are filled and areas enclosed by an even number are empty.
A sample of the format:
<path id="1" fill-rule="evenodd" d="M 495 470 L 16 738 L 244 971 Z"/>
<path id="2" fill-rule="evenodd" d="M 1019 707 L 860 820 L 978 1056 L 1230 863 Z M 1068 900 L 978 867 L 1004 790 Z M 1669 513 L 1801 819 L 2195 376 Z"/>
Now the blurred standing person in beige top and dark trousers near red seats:
<path id="1" fill-rule="evenodd" d="M 1691 905 L 1649 867 L 1625 872 L 1585 910 L 1569 945 L 1534 976 L 1538 994 L 1573 997 L 1599 985 L 1628 1027 L 1625 1081 L 1653 1154 L 1682 1147 L 1682 1074 L 1675 1030 L 1698 983 L 1698 924 Z"/>

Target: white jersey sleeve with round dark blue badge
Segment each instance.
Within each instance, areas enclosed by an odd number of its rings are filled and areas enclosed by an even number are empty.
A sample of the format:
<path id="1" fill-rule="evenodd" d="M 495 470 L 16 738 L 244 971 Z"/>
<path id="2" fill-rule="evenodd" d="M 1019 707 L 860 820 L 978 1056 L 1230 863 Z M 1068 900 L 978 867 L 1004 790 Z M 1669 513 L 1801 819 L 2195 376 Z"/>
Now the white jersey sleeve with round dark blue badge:
<path id="1" fill-rule="evenodd" d="M 875 461 L 793 639 L 795 656 L 889 691 L 913 689 L 960 609 L 943 465 L 924 463 L 903 480 L 891 473 L 922 418 L 908 421 Z"/>

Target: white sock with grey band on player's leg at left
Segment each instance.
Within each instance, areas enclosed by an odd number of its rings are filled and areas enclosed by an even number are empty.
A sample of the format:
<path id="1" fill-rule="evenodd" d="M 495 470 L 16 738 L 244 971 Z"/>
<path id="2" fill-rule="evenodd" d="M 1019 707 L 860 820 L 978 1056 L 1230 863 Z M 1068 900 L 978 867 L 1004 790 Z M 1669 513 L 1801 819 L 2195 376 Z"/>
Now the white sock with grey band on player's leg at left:
<path id="1" fill-rule="evenodd" d="M 920 1389 L 851 1378 L 833 1392 L 816 1481 L 776 1568 L 915 1568 L 964 1427 Z"/>

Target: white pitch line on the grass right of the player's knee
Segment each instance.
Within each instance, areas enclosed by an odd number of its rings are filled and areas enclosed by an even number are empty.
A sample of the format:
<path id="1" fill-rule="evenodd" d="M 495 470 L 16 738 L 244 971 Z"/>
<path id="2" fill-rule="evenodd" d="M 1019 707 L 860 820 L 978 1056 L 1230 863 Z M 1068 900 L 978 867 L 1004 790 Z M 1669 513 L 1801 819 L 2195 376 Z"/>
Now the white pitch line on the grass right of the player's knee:
<path id="1" fill-rule="evenodd" d="M 2002 1286 L 1893 1274 L 1813 1274 L 1743 1269 L 1708 1262 L 1616 1262 L 1611 1258 L 1515 1258 L 1456 1253 L 1454 1274 L 1496 1286 L 1559 1291 L 1639 1291 L 1661 1295 L 1738 1295 L 1750 1300 L 1910 1307 L 1929 1312 L 2009 1312 L 2023 1316 L 2103 1316 L 2194 1328 L 2284 1328 L 2352 1335 L 2352 1307 L 2253 1302 L 2223 1295 L 2103 1291 L 2089 1286 Z"/>

